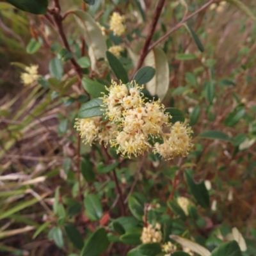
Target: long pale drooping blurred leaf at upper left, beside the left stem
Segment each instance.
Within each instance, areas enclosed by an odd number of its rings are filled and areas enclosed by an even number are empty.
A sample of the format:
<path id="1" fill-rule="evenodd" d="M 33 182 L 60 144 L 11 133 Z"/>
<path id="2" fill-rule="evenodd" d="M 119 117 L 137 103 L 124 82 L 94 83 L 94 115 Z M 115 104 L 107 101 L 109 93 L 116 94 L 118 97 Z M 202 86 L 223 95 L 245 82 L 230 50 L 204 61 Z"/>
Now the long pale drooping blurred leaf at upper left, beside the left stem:
<path id="1" fill-rule="evenodd" d="M 76 21 L 84 35 L 88 54 L 92 63 L 92 70 L 98 72 L 97 60 L 106 57 L 107 45 L 102 32 L 95 20 L 86 12 L 77 10 L 74 12 Z"/>

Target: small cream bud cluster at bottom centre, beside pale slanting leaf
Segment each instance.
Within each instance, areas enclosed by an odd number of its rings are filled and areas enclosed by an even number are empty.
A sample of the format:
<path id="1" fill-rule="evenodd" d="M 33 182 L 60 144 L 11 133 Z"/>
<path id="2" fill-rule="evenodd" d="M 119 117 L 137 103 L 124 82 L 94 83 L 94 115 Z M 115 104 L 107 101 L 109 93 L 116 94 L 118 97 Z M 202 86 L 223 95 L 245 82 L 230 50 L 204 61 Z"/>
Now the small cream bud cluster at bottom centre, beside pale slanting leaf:
<path id="1" fill-rule="evenodd" d="M 148 224 L 147 227 L 143 227 L 140 239 L 143 244 L 161 243 L 162 241 L 161 225 L 159 223 L 156 223 L 155 227 L 153 227 L 153 225 L 151 224 Z"/>

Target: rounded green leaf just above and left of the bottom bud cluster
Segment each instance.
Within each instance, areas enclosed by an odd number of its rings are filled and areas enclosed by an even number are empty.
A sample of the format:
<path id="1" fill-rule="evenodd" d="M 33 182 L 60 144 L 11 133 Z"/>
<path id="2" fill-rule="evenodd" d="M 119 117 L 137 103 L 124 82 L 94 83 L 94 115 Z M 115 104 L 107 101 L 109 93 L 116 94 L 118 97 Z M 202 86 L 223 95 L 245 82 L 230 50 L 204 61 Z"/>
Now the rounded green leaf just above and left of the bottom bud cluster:
<path id="1" fill-rule="evenodd" d="M 142 220 L 144 214 L 144 205 L 147 202 L 147 198 L 141 193 L 135 192 L 129 196 L 128 206 L 132 215 L 138 220 Z"/>

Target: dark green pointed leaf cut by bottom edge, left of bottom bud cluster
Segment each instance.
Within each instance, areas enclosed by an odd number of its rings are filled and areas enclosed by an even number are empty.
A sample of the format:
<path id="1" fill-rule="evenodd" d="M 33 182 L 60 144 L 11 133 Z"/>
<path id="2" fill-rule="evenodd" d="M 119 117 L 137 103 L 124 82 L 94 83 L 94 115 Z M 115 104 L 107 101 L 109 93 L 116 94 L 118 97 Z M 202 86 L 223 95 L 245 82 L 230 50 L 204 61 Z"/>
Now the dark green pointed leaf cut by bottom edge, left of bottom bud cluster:
<path id="1" fill-rule="evenodd" d="M 108 248 L 108 237 L 104 228 L 96 230 L 84 244 L 81 256 L 99 256 Z"/>

